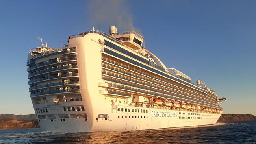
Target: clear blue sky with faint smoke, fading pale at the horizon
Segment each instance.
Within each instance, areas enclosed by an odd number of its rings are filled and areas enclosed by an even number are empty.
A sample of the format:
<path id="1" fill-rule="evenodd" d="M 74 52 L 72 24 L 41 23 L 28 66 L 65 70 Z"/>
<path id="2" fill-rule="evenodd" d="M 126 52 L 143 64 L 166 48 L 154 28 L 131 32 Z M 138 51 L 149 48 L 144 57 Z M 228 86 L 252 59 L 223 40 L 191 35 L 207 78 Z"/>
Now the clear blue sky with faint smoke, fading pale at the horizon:
<path id="1" fill-rule="evenodd" d="M 176 68 L 226 97 L 225 114 L 256 115 L 255 0 L 1 0 L 0 114 L 34 114 L 28 51 L 60 48 L 67 36 L 135 30 L 167 68 Z"/>

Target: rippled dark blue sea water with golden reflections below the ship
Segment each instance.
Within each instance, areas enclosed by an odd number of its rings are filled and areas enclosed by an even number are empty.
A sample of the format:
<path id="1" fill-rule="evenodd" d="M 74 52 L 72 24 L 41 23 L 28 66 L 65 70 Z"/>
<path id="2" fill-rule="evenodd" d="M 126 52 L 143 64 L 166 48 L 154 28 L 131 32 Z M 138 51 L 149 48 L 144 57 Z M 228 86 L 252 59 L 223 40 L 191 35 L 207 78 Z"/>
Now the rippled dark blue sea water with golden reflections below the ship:
<path id="1" fill-rule="evenodd" d="M 0 130 L 0 144 L 255 144 L 255 142 L 256 121 L 143 131 L 91 133 L 45 132 L 41 129 Z"/>

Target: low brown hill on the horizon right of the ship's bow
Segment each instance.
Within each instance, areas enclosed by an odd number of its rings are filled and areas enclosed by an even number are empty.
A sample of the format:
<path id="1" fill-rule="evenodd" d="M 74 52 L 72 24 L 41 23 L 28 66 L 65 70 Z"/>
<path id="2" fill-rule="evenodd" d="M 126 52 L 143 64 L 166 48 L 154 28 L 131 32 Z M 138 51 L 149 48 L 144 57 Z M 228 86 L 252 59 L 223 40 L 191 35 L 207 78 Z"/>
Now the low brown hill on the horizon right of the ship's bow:
<path id="1" fill-rule="evenodd" d="M 218 122 L 252 121 L 252 120 L 256 120 L 256 116 L 252 114 L 222 114 Z"/>

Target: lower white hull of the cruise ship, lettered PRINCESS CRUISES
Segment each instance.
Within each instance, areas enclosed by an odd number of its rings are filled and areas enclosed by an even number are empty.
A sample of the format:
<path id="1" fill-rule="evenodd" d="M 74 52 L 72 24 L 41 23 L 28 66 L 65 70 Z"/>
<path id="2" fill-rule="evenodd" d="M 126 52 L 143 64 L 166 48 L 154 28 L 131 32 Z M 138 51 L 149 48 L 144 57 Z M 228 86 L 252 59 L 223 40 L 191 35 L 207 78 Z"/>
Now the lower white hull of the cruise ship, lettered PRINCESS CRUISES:
<path id="1" fill-rule="evenodd" d="M 84 118 L 67 118 L 65 119 L 65 122 L 61 122 L 60 119 L 56 117 L 53 122 L 51 122 L 49 119 L 43 119 L 40 120 L 39 124 L 43 131 L 134 131 L 145 129 L 211 125 L 215 124 L 221 116 L 221 113 L 197 113 L 169 109 L 119 106 L 120 109 L 130 108 L 145 110 L 145 113 L 121 112 L 117 111 L 117 109 L 112 109 L 110 102 L 104 102 L 102 105 L 103 104 L 105 108 L 98 113 L 107 113 L 109 116 L 108 120 L 105 120 L 105 118 L 98 118 L 98 120 L 92 119 L 85 121 Z M 146 110 L 148 110 L 148 113 L 146 113 Z M 86 113 L 87 115 L 91 115 L 89 112 Z"/>

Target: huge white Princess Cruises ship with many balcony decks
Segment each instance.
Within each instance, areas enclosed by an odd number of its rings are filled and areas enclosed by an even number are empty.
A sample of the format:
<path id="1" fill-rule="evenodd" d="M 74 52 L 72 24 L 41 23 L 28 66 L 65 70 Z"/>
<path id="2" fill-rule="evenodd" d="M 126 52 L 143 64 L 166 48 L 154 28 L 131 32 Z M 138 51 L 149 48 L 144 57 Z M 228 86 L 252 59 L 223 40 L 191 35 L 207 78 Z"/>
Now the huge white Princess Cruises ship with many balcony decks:
<path id="1" fill-rule="evenodd" d="M 43 131 L 134 131 L 215 124 L 215 90 L 163 62 L 135 31 L 91 30 L 29 51 L 30 98 Z"/>

